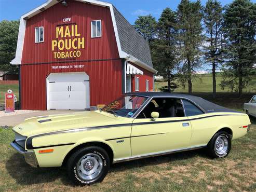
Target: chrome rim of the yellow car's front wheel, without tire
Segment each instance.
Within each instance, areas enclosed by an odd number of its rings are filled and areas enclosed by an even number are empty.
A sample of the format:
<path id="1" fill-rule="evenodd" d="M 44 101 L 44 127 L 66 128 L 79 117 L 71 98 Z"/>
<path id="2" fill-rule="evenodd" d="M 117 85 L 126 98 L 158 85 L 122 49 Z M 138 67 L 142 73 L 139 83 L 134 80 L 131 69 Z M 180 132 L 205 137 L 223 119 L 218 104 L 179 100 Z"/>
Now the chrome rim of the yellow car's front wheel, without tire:
<path id="1" fill-rule="evenodd" d="M 83 180 L 93 180 L 102 171 L 103 161 L 97 154 L 86 154 L 76 164 L 77 173 Z"/>

